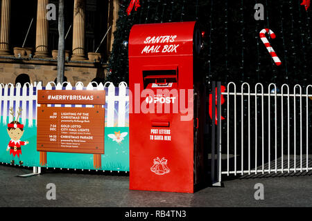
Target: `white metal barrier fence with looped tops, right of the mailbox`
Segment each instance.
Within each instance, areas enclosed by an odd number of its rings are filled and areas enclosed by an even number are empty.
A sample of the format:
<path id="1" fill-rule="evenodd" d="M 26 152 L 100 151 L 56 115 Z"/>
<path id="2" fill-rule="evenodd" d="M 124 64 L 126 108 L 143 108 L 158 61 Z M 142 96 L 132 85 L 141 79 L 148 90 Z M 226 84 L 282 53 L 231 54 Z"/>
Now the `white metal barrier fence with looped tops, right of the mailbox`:
<path id="1" fill-rule="evenodd" d="M 216 185 L 222 175 L 312 170 L 312 85 L 283 84 L 279 89 L 270 84 L 265 89 L 256 84 L 252 89 L 243 83 L 237 90 L 230 82 L 223 93 L 220 82 L 216 92 L 214 87 L 218 124 L 212 127 L 212 137 L 215 130 L 217 136 L 211 141 L 211 179 Z"/>

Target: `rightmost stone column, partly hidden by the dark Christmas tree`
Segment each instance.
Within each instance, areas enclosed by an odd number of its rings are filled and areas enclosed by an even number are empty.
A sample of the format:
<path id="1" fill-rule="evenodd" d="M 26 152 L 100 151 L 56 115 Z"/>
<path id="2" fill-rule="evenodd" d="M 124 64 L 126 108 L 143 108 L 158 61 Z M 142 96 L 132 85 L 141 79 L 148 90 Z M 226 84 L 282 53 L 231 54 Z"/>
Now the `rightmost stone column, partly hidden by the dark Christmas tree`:
<path id="1" fill-rule="evenodd" d="M 108 24 L 107 28 L 110 28 L 110 31 L 107 33 L 107 52 L 112 51 L 112 44 L 114 43 L 114 31 L 116 30 L 116 22 L 118 19 L 119 11 L 119 0 L 110 0 L 108 6 Z"/>

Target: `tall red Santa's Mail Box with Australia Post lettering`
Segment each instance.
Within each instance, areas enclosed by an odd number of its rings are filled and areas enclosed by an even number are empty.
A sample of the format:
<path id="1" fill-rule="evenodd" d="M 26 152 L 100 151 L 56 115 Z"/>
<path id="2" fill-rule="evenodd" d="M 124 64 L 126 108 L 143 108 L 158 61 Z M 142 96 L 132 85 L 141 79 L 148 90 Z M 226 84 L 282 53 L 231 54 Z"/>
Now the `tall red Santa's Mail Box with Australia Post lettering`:
<path id="1" fill-rule="evenodd" d="M 207 183 L 206 95 L 204 77 L 196 71 L 200 39 L 195 21 L 131 29 L 132 190 L 193 193 Z"/>

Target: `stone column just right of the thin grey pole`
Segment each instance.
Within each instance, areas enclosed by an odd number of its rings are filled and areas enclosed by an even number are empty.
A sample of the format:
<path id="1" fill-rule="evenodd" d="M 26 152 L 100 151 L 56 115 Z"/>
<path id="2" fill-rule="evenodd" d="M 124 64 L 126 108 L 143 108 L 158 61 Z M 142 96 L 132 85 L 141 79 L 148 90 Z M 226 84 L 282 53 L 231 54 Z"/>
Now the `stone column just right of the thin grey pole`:
<path id="1" fill-rule="evenodd" d="M 73 61 L 85 60 L 85 0 L 73 3 Z"/>

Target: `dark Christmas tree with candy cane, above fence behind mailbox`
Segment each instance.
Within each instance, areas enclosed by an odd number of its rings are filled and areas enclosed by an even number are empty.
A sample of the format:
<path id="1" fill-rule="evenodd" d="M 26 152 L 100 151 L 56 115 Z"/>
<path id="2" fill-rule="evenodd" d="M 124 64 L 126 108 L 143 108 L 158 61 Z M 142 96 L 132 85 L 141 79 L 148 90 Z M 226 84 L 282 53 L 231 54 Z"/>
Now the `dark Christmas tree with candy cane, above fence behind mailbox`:
<path id="1" fill-rule="evenodd" d="M 309 0 L 131 0 L 120 1 L 108 81 L 128 82 L 128 37 L 137 23 L 198 21 L 202 30 L 202 66 L 208 81 L 250 84 L 312 82 L 311 8 Z M 255 19 L 256 4 L 263 20 Z M 134 6 L 127 13 L 128 6 Z M 139 4 L 135 10 L 135 4 Z M 306 5 L 306 6 L 305 6 Z M 275 32 L 268 41 L 281 60 L 277 66 L 259 37 L 263 28 Z"/>

